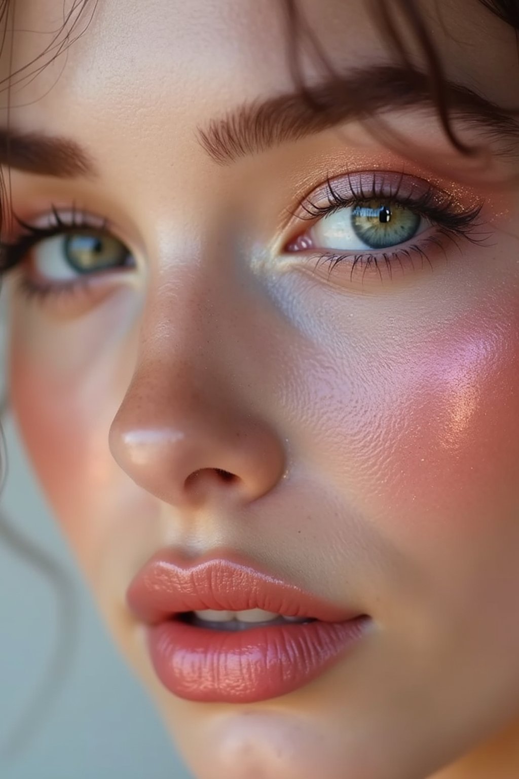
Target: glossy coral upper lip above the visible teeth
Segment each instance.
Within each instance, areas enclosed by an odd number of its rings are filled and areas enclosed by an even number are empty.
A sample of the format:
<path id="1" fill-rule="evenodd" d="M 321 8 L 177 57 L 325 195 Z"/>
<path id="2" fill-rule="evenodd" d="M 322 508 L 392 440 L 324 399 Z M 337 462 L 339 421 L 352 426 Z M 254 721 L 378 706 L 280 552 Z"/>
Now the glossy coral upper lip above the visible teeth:
<path id="1" fill-rule="evenodd" d="M 128 587 L 127 601 L 139 619 L 150 623 L 204 609 L 263 608 L 322 622 L 345 622 L 360 615 L 265 573 L 237 555 L 213 556 L 193 564 L 171 551 L 159 552 L 146 563 Z"/>

